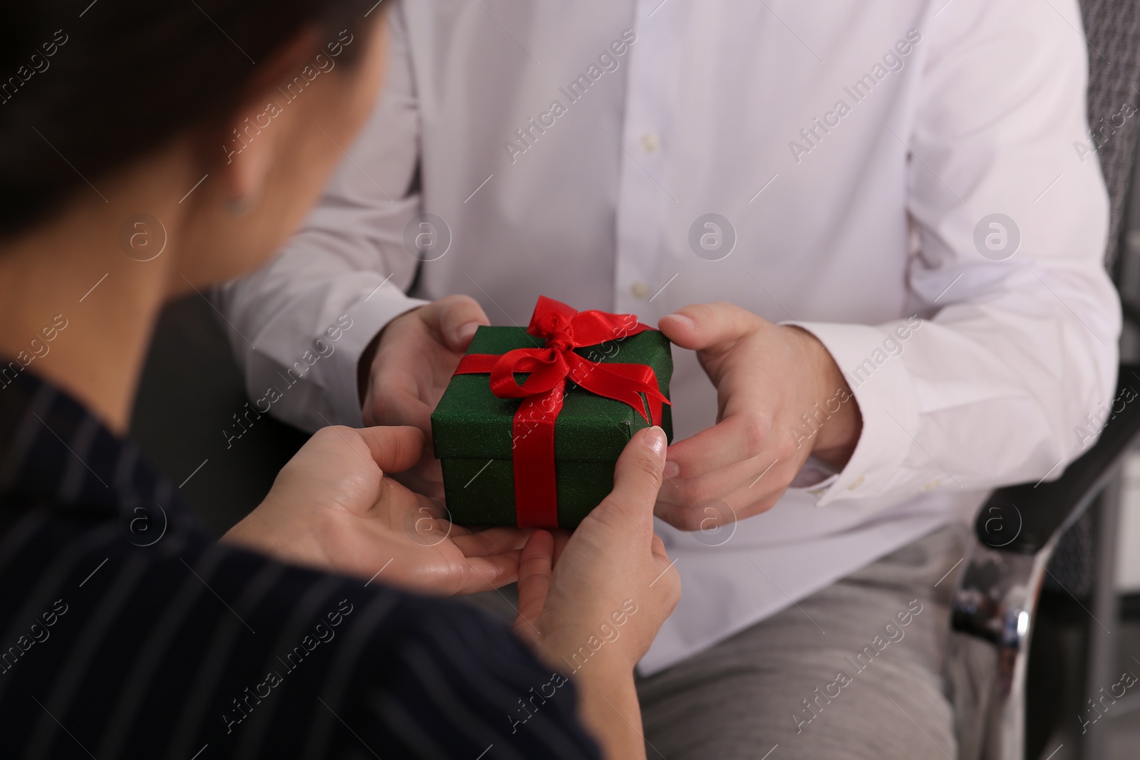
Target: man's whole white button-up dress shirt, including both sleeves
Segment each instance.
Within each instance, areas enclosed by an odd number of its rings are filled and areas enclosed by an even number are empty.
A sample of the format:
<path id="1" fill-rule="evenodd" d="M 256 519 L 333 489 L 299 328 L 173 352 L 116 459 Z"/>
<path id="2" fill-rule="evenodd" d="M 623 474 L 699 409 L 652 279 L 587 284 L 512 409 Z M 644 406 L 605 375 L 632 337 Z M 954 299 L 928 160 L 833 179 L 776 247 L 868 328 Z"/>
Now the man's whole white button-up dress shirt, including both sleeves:
<path id="1" fill-rule="evenodd" d="M 643 671 L 1089 444 L 1121 325 L 1075 0 L 435 0 L 390 27 L 321 204 L 220 295 L 254 399 L 361 424 L 357 360 L 409 288 L 502 325 L 540 294 L 650 325 L 728 301 L 813 332 L 854 390 L 841 472 L 719 532 L 659 523 L 683 598 Z M 674 353 L 684 438 L 716 393 Z"/>

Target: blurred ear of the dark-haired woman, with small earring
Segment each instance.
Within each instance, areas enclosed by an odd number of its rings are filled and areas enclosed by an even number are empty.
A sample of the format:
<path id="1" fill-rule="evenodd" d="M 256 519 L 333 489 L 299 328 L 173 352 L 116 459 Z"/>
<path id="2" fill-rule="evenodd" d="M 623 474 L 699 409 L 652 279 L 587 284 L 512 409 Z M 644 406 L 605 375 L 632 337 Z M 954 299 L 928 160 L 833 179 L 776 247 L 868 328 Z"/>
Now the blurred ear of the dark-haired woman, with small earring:
<path id="1" fill-rule="evenodd" d="M 286 131 L 288 98 L 280 84 L 304 68 L 318 49 L 314 28 L 303 31 L 271 59 L 258 65 L 258 73 L 245 89 L 238 107 L 221 124 L 221 153 L 218 172 L 226 191 L 227 206 L 235 215 L 245 215 L 261 201 L 280 134 Z"/>

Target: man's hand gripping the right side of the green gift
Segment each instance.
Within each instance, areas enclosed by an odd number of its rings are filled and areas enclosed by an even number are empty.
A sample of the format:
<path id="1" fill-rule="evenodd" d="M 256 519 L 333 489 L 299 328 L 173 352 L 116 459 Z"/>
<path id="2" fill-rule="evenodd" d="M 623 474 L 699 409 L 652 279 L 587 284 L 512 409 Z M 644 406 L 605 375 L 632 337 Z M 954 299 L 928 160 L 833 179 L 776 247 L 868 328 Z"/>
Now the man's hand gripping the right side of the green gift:
<path id="1" fill-rule="evenodd" d="M 775 505 L 809 455 L 834 466 L 850 458 L 862 416 L 811 333 L 730 303 L 685 307 L 659 327 L 697 351 L 717 389 L 717 424 L 669 447 L 659 517 L 683 530 L 749 517 Z M 714 499 L 728 509 L 705 509 Z"/>

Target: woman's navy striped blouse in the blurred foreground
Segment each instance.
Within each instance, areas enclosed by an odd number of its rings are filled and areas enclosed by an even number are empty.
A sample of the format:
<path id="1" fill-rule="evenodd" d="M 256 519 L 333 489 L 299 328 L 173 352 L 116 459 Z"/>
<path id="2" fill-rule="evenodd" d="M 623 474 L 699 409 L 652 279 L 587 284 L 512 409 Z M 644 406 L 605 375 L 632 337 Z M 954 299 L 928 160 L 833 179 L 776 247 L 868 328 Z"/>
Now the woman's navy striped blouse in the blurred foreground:
<path id="1" fill-rule="evenodd" d="M 0 757 L 596 758 L 573 705 L 500 622 L 219 546 L 75 401 L 0 387 Z"/>

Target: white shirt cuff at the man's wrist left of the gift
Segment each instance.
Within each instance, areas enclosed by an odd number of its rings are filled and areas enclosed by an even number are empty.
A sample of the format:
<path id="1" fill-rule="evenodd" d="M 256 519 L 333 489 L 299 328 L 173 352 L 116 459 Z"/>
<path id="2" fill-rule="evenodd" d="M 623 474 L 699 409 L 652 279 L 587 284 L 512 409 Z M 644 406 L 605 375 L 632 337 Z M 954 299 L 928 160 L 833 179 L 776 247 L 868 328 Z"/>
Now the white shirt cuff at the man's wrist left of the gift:
<path id="1" fill-rule="evenodd" d="M 382 285 L 382 287 L 396 289 L 394 285 Z M 370 287 L 361 292 L 347 309 L 352 325 L 344 330 L 336 351 L 329 357 L 332 361 L 327 375 L 328 397 L 335 414 L 333 419 L 335 424 L 364 427 L 360 392 L 357 387 L 357 365 L 360 363 L 360 354 L 388 322 L 426 303 L 427 301 L 412 299 L 402 293 L 384 293 L 381 288 Z"/>

